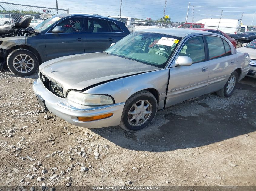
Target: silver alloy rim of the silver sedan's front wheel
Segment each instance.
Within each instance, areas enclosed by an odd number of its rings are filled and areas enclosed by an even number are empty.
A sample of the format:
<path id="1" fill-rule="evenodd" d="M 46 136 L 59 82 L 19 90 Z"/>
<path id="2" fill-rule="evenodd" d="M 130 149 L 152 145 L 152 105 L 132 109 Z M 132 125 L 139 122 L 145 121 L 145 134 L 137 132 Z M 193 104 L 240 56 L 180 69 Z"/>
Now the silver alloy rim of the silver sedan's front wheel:
<path id="1" fill-rule="evenodd" d="M 148 100 L 136 102 L 128 112 L 128 122 L 132 126 L 141 126 L 146 123 L 151 116 L 152 105 Z"/>

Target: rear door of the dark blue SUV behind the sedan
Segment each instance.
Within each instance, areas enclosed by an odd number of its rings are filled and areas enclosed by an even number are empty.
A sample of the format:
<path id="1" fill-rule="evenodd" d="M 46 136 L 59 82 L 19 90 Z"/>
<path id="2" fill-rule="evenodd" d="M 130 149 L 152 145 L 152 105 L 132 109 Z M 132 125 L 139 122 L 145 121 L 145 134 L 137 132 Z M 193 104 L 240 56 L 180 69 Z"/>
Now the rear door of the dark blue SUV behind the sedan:
<path id="1" fill-rule="evenodd" d="M 85 53 L 101 52 L 117 42 L 108 20 L 87 18 L 85 33 Z"/>

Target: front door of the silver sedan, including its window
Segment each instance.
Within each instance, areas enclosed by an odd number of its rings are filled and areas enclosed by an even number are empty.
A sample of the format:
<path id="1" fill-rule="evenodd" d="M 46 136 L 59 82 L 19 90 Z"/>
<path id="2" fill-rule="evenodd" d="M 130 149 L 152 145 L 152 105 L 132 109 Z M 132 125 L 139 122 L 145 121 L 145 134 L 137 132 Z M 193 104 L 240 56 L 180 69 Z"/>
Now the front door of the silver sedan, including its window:
<path id="1" fill-rule="evenodd" d="M 190 57 L 193 60 L 193 64 L 191 66 L 170 68 L 165 107 L 201 96 L 207 86 L 209 61 L 206 61 L 202 36 L 188 39 L 182 46 L 178 56 Z"/>

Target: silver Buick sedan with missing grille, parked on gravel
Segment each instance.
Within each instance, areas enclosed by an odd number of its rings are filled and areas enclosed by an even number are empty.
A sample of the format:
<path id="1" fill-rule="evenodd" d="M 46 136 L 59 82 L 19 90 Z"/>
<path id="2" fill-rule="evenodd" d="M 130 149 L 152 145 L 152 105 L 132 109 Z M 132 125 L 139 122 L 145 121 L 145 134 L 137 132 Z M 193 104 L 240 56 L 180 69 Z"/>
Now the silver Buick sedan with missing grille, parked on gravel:
<path id="1" fill-rule="evenodd" d="M 211 92 L 231 96 L 249 61 L 218 34 L 148 29 L 103 52 L 43 63 L 33 89 L 45 110 L 71 124 L 137 131 L 157 110 Z"/>

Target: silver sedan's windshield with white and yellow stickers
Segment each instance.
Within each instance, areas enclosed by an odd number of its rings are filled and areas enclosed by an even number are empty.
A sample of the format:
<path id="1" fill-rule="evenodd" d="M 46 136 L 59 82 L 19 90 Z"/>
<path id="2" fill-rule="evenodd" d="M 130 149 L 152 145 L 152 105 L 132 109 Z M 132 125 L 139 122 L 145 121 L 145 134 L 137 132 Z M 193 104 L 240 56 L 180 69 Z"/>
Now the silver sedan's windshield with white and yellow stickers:
<path id="1" fill-rule="evenodd" d="M 105 52 L 159 68 L 165 68 L 181 37 L 135 32 L 119 40 Z"/>

